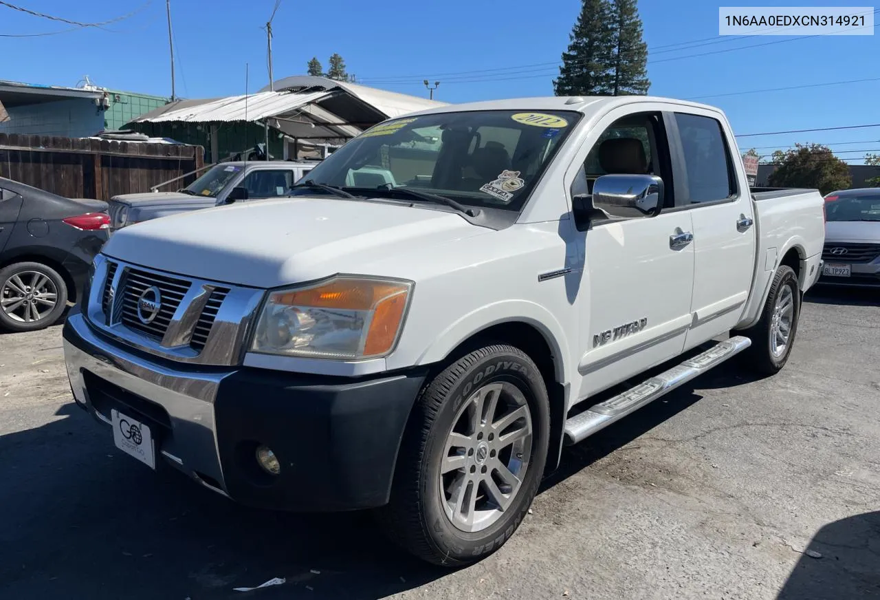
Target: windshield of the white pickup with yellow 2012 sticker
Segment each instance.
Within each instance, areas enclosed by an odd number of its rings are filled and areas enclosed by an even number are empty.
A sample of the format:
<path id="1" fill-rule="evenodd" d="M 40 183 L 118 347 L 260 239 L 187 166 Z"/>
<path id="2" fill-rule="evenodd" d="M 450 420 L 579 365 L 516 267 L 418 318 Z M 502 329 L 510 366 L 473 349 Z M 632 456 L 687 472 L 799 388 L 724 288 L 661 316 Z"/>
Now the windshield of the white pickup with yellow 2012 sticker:
<path id="1" fill-rule="evenodd" d="M 569 111 L 490 110 L 386 121 L 343 145 L 308 179 L 360 196 L 408 188 L 519 211 L 579 118 Z"/>

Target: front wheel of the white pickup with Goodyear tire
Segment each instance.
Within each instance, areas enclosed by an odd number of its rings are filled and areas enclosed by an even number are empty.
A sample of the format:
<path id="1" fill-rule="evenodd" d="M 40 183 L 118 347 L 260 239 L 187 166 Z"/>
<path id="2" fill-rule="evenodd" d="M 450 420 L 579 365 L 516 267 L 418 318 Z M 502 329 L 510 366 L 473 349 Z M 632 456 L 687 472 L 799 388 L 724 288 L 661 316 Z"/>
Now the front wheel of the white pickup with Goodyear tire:
<path id="1" fill-rule="evenodd" d="M 493 404 L 492 418 L 476 425 L 475 407 L 488 412 L 485 407 Z M 516 420 L 511 420 L 514 413 Z M 529 426 L 531 434 L 524 435 Z M 453 440 L 454 434 L 461 437 Z M 489 345 L 458 359 L 429 381 L 415 402 L 398 453 L 390 502 L 377 514 L 385 534 L 415 556 L 445 567 L 460 567 L 495 552 L 532 505 L 549 437 L 546 387 L 525 352 Z M 460 468 L 441 475 L 444 457 L 451 459 L 446 468 Z M 521 464 L 524 473 L 517 471 Z M 507 473 L 516 471 L 519 485 L 510 485 L 513 480 L 498 465 Z M 491 492 L 488 479 L 495 486 Z M 464 511 L 451 506 L 458 506 L 458 500 L 463 500 Z M 502 503 L 506 506 L 500 511 Z M 465 513 L 471 515 L 470 524 Z"/>

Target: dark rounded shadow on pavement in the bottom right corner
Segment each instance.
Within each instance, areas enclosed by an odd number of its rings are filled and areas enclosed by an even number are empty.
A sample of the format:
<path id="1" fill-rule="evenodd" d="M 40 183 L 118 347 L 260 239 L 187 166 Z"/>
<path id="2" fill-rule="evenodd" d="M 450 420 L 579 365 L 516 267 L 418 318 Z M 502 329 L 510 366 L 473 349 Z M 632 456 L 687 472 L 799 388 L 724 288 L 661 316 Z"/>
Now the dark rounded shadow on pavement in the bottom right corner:
<path id="1" fill-rule="evenodd" d="M 819 556 L 803 554 L 779 600 L 880 598 L 880 512 L 825 525 L 807 550 Z"/>

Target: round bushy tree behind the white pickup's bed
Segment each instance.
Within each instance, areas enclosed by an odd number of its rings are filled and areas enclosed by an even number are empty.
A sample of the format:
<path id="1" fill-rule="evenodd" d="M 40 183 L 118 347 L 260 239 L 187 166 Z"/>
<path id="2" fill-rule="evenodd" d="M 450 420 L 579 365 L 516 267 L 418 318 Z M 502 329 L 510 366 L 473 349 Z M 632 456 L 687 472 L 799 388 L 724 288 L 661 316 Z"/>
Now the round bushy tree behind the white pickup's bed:
<path id="1" fill-rule="evenodd" d="M 772 188 L 815 188 L 822 195 L 847 189 L 852 183 L 849 167 L 822 144 L 795 144 L 787 152 L 774 152 L 776 170 L 770 174 Z"/>

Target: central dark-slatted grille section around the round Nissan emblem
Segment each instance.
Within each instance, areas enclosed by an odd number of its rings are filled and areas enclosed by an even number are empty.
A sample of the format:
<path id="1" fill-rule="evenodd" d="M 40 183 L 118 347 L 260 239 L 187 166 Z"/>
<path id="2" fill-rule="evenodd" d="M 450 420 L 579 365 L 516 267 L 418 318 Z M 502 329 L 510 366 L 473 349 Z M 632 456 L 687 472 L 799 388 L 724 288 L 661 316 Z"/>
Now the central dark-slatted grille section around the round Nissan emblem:
<path id="1" fill-rule="evenodd" d="M 120 290 L 117 295 L 121 299 L 121 322 L 128 325 L 133 330 L 138 330 L 148 336 L 161 340 L 165 337 L 165 331 L 172 322 L 180 301 L 187 294 L 190 282 L 186 279 L 166 277 L 158 275 L 146 270 L 139 270 L 128 267 L 123 273 L 124 281 L 121 281 Z M 149 323 L 141 320 L 137 314 L 137 303 L 141 296 L 150 287 L 155 287 L 159 291 L 161 299 L 161 307 L 158 315 Z"/>

